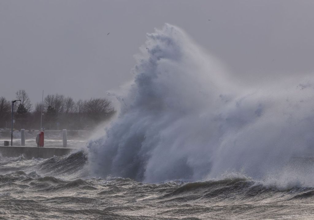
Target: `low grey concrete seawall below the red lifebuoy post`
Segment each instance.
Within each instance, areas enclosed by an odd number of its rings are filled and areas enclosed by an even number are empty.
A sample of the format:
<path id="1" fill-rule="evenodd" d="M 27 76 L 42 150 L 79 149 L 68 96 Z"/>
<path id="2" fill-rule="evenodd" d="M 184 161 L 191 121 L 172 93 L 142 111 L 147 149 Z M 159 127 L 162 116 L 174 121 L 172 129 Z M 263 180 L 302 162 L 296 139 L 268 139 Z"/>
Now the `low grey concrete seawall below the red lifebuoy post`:
<path id="1" fill-rule="evenodd" d="M 79 151 L 79 148 L 0 146 L 0 154 L 2 156 L 18 157 L 23 154 L 26 159 L 64 156 L 75 151 Z"/>

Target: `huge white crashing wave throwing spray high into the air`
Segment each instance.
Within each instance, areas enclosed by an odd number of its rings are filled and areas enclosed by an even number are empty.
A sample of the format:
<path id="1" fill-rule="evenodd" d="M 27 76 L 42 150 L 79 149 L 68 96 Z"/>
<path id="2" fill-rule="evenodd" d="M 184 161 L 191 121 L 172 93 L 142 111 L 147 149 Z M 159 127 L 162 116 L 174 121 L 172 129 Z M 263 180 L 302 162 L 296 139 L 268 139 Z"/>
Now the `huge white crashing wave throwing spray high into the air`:
<path id="1" fill-rule="evenodd" d="M 249 91 L 215 63 L 175 26 L 147 34 L 134 81 L 117 95 L 119 117 L 89 141 L 93 175 L 160 182 L 236 171 L 314 185 L 313 173 L 286 166 L 314 152 L 313 77 Z"/>

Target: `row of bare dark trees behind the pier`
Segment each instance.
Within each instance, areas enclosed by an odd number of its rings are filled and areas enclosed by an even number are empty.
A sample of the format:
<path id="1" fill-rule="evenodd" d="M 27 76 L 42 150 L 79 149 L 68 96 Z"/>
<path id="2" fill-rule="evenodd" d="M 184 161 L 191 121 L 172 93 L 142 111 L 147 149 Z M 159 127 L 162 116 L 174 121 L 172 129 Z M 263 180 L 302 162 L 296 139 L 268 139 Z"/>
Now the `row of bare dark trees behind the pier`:
<path id="1" fill-rule="evenodd" d="M 99 123 L 110 119 L 115 114 L 112 102 L 105 98 L 90 98 L 89 100 L 73 100 L 61 94 L 46 95 L 43 103 L 35 106 L 25 90 L 18 90 L 14 103 L 14 129 L 91 129 Z M 43 105 L 43 106 L 41 106 Z M 12 102 L 0 97 L 0 128 L 11 128 Z"/>

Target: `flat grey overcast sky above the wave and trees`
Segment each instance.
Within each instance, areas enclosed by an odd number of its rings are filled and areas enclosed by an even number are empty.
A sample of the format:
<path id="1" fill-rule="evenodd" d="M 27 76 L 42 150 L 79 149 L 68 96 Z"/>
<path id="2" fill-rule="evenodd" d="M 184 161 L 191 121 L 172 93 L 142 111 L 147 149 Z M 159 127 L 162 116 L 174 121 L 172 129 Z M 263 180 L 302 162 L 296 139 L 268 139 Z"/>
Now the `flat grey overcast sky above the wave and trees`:
<path id="1" fill-rule="evenodd" d="M 103 97 L 131 79 L 133 54 L 164 23 L 183 28 L 238 83 L 312 73 L 313 12 L 314 1 L 299 0 L 0 0 L 0 96 Z"/>

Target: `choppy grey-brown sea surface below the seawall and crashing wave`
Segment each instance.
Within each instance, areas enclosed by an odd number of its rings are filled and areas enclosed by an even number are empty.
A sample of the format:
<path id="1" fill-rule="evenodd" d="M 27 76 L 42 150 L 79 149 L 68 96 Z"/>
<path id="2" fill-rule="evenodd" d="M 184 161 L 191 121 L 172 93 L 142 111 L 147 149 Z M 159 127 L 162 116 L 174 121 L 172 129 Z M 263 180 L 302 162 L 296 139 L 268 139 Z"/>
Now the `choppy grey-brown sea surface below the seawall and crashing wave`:
<path id="1" fill-rule="evenodd" d="M 0 219 L 313 219 L 314 188 L 247 178 L 136 182 L 88 178 L 83 151 L 0 158 Z"/>

